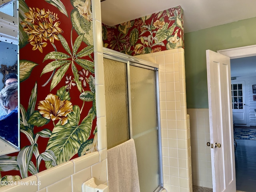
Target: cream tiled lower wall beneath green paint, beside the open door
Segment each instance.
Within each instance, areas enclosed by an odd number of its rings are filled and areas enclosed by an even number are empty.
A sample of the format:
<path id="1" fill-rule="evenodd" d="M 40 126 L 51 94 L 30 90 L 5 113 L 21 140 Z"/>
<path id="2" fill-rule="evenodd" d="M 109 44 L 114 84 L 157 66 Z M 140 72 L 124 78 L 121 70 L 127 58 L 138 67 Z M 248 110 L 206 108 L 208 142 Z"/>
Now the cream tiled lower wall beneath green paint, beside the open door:
<path id="1" fill-rule="evenodd" d="M 188 109 L 190 115 L 192 181 L 195 186 L 212 188 L 209 109 Z"/>

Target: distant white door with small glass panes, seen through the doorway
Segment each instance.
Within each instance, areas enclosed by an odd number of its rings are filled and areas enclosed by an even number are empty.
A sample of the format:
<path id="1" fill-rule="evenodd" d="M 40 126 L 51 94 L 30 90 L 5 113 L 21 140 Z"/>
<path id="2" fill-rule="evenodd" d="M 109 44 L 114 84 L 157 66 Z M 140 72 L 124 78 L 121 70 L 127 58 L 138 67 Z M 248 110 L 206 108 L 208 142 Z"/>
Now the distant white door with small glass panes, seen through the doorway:
<path id="1" fill-rule="evenodd" d="M 232 81 L 231 93 L 234 123 L 246 126 L 245 81 Z"/>

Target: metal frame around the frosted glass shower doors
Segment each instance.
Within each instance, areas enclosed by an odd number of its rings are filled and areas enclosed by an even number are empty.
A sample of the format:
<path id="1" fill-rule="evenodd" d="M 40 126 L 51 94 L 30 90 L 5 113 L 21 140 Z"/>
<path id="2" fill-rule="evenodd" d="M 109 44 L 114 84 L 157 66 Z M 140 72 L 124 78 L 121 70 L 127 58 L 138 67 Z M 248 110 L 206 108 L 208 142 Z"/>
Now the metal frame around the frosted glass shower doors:
<path id="1" fill-rule="evenodd" d="M 138 66 L 155 71 L 156 80 L 156 113 L 157 113 L 157 133 L 158 133 L 158 159 L 159 159 L 159 186 L 154 192 L 160 192 L 163 189 L 163 165 L 162 165 L 162 136 L 160 124 L 160 97 L 159 97 L 159 77 L 158 77 L 158 64 L 148 62 L 133 56 L 129 56 L 108 48 L 103 48 L 103 58 L 116 60 L 126 63 L 127 66 L 127 83 L 128 83 L 128 115 L 129 115 L 129 131 L 130 138 L 132 138 L 132 112 L 131 112 L 131 92 L 130 92 L 130 65 Z"/>

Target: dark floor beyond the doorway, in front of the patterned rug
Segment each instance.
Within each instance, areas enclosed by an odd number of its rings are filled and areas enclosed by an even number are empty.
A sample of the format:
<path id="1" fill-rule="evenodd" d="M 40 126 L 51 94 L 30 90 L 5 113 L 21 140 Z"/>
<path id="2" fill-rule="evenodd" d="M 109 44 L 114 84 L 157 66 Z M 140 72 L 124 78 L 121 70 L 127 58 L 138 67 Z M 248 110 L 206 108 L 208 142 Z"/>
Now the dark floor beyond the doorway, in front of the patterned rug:
<path id="1" fill-rule="evenodd" d="M 236 139 L 236 190 L 256 192 L 256 140 Z"/>

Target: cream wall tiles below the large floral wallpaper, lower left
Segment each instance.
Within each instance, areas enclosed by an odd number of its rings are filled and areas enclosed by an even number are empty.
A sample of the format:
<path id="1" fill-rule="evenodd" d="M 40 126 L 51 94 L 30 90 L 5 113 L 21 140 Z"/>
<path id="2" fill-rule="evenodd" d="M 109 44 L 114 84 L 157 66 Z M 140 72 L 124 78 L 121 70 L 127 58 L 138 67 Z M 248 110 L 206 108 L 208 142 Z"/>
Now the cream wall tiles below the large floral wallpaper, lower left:
<path id="1" fill-rule="evenodd" d="M 82 184 L 92 177 L 97 185 L 107 183 L 106 160 L 99 161 L 99 152 L 86 154 L 17 181 L 16 185 L 3 186 L 0 192 L 82 192 Z"/>

